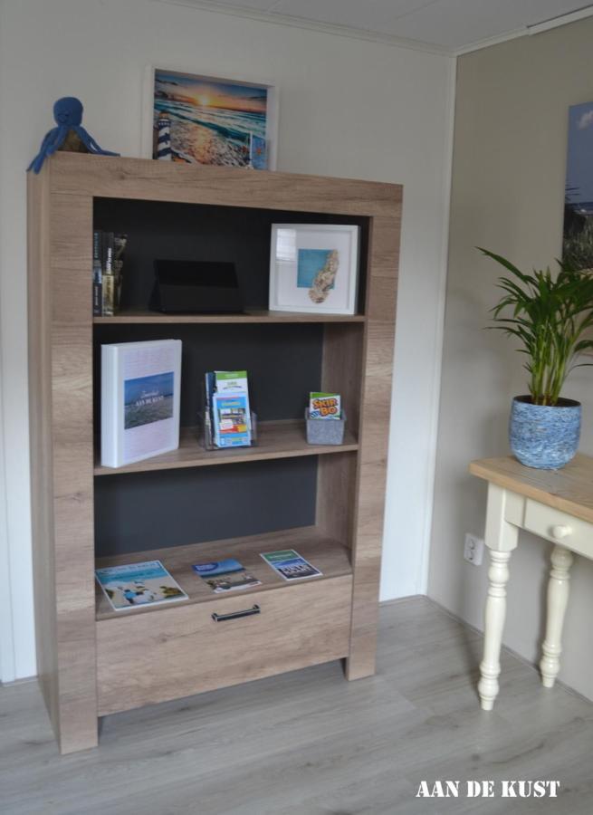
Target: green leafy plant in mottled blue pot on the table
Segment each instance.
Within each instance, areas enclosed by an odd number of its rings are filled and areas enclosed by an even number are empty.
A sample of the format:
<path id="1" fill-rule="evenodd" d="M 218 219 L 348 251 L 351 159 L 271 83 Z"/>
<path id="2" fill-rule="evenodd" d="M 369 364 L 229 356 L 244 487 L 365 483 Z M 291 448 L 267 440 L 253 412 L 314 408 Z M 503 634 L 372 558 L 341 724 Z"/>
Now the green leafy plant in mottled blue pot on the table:
<path id="1" fill-rule="evenodd" d="M 593 276 L 560 261 L 555 275 L 550 268 L 523 273 L 500 254 L 480 251 L 511 273 L 498 279 L 504 293 L 490 328 L 519 340 L 527 356 L 530 392 L 512 400 L 512 452 L 523 465 L 559 469 L 579 447 L 580 403 L 560 391 L 571 370 L 593 364 L 578 361 L 593 348 L 586 335 L 593 326 Z"/>

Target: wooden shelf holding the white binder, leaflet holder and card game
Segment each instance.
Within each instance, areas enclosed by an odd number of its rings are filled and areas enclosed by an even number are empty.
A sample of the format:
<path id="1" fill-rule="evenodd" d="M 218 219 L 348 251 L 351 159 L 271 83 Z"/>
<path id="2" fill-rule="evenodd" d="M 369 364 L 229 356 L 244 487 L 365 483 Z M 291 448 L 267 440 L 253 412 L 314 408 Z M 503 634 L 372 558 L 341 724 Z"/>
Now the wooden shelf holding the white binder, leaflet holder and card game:
<path id="1" fill-rule="evenodd" d="M 341 445 L 310 445 L 305 436 L 304 422 L 293 419 L 260 422 L 257 426 L 257 436 L 257 444 L 251 447 L 206 450 L 198 441 L 196 427 L 182 427 L 177 450 L 117 468 L 101 466 L 100 456 L 97 455 L 94 474 L 102 476 L 145 473 L 151 470 L 237 464 L 273 458 L 294 458 L 301 455 L 350 453 L 359 449 L 356 436 L 348 428 Z"/>

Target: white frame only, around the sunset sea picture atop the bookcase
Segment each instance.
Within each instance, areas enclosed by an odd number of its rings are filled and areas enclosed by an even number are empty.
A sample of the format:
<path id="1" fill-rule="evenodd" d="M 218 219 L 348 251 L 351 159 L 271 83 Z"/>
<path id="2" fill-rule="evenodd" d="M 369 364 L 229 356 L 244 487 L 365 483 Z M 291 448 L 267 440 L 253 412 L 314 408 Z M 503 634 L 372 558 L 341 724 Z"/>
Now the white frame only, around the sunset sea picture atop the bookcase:
<path id="1" fill-rule="evenodd" d="M 276 168 L 276 156 L 278 147 L 278 87 L 273 82 L 261 79 L 250 79 L 236 76 L 213 76 L 207 72 L 187 71 L 179 66 L 171 65 L 148 65 L 144 72 L 144 88 L 142 101 L 142 131 L 141 131 L 141 156 L 142 158 L 156 158 L 153 155 L 154 132 L 155 132 L 155 96 L 156 81 L 158 73 L 173 74 L 180 78 L 187 78 L 192 82 L 211 83 L 213 85 L 233 85 L 244 89 L 259 89 L 266 92 L 266 112 L 265 112 L 265 142 L 267 154 L 267 166 L 265 169 L 274 170 Z M 187 157 L 187 152 L 185 153 Z M 181 159 L 182 160 L 182 159 Z M 220 164 L 219 161 L 190 161 L 188 163 Z M 232 161 L 228 161 L 224 166 L 236 166 Z M 249 166 L 249 165 L 239 165 Z"/>

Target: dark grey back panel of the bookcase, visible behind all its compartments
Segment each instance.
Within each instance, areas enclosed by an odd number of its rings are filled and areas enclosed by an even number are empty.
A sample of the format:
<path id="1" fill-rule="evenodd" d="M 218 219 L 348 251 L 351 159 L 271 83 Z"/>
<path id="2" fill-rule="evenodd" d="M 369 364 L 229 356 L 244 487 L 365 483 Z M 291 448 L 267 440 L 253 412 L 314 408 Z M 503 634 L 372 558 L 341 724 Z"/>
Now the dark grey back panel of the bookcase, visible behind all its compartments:
<path id="1" fill-rule="evenodd" d="M 129 237 L 123 307 L 146 308 L 154 261 L 234 263 L 246 306 L 267 308 L 273 223 L 356 224 L 359 310 L 364 309 L 368 219 L 224 206 L 95 199 L 94 226 Z M 95 427 L 99 427 L 100 344 L 183 342 L 181 423 L 196 424 L 204 373 L 246 369 L 261 421 L 301 418 L 320 389 L 323 327 L 264 325 L 96 325 Z M 315 523 L 317 456 L 95 479 L 99 555 L 273 532 Z"/>

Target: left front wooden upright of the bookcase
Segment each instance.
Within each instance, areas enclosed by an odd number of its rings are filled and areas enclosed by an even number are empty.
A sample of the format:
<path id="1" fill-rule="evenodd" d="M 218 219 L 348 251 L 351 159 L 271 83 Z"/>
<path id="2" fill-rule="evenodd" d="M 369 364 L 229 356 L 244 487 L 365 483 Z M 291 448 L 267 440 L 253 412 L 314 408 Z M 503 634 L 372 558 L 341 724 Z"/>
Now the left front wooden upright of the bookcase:
<path id="1" fill-rule="evenodd" d="M 92 434 L 92 198 L 53 192 L 53 533 L 60 747 L 97 744 Z"/>

